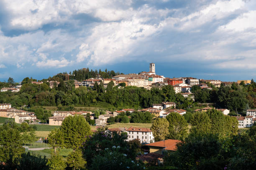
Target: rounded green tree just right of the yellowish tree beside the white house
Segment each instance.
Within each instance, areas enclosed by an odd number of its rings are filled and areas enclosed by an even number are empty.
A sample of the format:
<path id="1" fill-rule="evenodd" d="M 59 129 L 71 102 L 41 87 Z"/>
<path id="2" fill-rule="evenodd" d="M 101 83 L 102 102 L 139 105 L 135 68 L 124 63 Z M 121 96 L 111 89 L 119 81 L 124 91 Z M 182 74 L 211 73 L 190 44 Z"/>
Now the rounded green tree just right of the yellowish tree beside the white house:
<path id="1" fill-rule="evenodd" d="M 171 112 L 166 116 L 169 122 L 169 136 L 170 139 L 183 140 L 187 136 L 187 121 L 184 116 L 177 112 Z"/>

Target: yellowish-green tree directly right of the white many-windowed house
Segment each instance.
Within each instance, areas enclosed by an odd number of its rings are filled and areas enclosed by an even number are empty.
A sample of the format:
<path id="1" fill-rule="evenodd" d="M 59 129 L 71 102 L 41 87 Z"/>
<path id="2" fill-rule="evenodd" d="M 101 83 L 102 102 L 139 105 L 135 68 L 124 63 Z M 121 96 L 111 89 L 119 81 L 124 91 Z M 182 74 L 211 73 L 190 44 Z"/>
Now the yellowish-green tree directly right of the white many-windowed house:
<path id="1" fill-rule="evenodd" d="M 165 140 L 169 135 L 169 122 L 165 118 L 156 118 L 154 120 L 152 127 L 152 133 L 154 135 L 155 141 Z"/>

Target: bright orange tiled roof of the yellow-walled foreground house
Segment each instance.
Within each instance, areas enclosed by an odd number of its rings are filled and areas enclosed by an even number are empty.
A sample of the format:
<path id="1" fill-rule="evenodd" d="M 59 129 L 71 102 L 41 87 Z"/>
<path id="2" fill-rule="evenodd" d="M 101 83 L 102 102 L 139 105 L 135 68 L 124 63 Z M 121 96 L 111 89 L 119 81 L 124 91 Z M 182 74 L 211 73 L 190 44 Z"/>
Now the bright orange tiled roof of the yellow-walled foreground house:
<path id="1" fill-rule="evenodd" d="M 149 143 L 147 146 L 154 146 L 154 147 L 161 147 L 165 150 L 177 150 L 176 144 L 180 143 L 180 140 L 174 140 L 174 139 L 168 139 L 168 140 L 162 140 L 155 143 Z"/>

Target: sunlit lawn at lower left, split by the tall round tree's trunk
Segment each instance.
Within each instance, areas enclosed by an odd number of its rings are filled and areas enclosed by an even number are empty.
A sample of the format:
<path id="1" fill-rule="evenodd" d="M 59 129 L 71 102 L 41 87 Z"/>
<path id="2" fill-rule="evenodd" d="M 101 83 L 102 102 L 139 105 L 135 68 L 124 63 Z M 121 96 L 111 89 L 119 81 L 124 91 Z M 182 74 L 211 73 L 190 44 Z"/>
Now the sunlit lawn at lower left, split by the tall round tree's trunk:
<path id="1" fill-rule="evenodd" d="M 46 156 L 46 158 L 50 158 L 52 151 L 53 149 L 44 149 L 44 150 L 28 150 L 27 152 L 30 152 L 31 155 L 41 155 L 42 157 Z M 72 149 L 63 148 L 59 150 L 59 155 L 63 157 L 67 157 L 67 155 L 69 155 L 69 153 L 71 152 L 72 152 Z"/>

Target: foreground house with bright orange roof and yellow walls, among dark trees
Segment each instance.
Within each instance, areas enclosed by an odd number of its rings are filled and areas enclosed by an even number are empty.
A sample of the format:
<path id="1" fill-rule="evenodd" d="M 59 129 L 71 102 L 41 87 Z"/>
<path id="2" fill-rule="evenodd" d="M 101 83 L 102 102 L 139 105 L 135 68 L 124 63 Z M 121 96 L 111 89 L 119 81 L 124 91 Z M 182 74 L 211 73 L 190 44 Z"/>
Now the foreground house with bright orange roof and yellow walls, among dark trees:
<path id="1" fill-rule="evenodd" d="M 149 147 L 149 153 L 158 153 L 163 155 L 164 151 L 176 151 L 177 143 L 180 143 L 180 140 L 168 139 L 162 140 L 155 143 L 149 143 L 146 146 Z"/>

